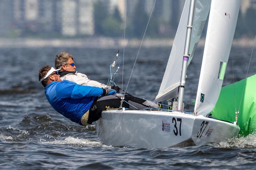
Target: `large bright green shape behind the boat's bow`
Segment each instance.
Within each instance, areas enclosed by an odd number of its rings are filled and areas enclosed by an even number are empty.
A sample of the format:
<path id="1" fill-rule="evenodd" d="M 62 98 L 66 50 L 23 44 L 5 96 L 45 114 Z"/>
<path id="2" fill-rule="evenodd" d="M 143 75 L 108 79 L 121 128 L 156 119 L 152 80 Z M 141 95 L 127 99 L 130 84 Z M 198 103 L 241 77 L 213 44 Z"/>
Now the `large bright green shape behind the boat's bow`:
<path id="1" fill-rule="evenodd" d="M 243 89 L 244 94 L 242 94 Z M 238 111 L 239 106 L 240 110 L 237 119 L 237 125 L 240 127 L 239 134 L 247 136 L 250 133 L 256 132 L 256 74 L 222 87 L 220 97 L 211 113 L 213 117 L 220 120 L 235 122 L 236 110 Z"/>

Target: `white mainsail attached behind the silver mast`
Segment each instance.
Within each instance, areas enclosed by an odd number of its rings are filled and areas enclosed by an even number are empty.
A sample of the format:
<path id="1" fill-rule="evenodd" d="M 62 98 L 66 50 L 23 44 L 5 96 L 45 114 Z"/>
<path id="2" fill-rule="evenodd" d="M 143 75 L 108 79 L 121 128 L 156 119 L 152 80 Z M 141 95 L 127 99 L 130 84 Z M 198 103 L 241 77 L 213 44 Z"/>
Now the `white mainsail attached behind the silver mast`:
<path id="1" fill-rule="evenodd" d="M 189 12 L 190 0 L 186 0 L 180 23 L 177 29 L 177 33 L 172 45 L 172 51 L 164 72 L 164 77 L 159 89 L 159 92 L 156 96 L 155 101 L 170 100 L 173 97 L 178 95 L 178 86 L 180 85 L 180 76 L 182 68 L 182 59 L 185 47 L 185 39 L 187 32 L 188 24 L 188 12 Z M 201 37 L 205 21 L 207 19 L 209 10 L 210 10 L 211 1 L 205 0 L 196 0 L 195 12 L 193 19 L 193 29 L 190 40 L 189 48 L 189 60 L 188 64 L 191 61 L 197 43 Z"/>

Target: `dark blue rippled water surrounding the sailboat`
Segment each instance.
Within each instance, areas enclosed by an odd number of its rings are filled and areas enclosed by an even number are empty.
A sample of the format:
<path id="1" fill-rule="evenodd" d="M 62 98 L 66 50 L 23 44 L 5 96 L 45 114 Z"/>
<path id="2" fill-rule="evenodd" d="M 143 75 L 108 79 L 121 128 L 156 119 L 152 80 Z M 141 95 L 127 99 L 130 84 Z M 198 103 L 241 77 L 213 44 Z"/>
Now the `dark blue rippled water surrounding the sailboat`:
<path id="1" fill-rule="evenodd" d="M 137 149 L 113 147 L 99 142 L 95 126 L 83 127 L 56 113 L 38 82 L 38 70 L 60 51 L 75 57 L 77 71 L 107 83 L 109 65 L 117 49 L 0 48 L 0 166 L 1 169 L 255 169 L 256 134 L 220 144 Z M 126 49 L 126 88 L 137 48 Z M 252 48 L 233 47 L 235 82 L 246 77 Z M 120 51 L 119 61 L 123 52 Z M 127 91 L 154 99 L 170 54 L 169 48 L 143 48 Z M 192 111 L 203 49 L 198 48 L 188 68 L 185 110 Z M 233 83 L 229 58 L 223 85 Z M 119 62 L 118 62 L 119 64 Z M 121 64 L 122 65 L 122 64 Z M 256 73 L 253 54 L 248 76 Z M 122 68 L 116 84 L 122 86 Z"/>

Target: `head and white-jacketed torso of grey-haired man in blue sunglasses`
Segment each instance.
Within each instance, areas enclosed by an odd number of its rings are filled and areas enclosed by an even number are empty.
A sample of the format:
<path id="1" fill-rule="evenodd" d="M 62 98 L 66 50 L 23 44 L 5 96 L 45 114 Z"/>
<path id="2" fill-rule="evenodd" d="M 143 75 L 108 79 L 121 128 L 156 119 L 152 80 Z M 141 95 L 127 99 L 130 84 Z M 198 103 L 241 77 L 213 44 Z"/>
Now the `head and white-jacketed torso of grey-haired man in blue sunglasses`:
<path id="1" fill-rule="evenodd" d="M 78 85 L 86 85 L 93 87 L 106 88 L 107 86 L 90 80 L 85 74 L 78 73 L 76 71 L 76 66 L 73 61 L 73 56 L 66 52 L 60 52 L 60 54 L 55 57 L 55 68 L 60 69 L 60 79 L 61 80 L 69 80 L 75 82 Z"/>

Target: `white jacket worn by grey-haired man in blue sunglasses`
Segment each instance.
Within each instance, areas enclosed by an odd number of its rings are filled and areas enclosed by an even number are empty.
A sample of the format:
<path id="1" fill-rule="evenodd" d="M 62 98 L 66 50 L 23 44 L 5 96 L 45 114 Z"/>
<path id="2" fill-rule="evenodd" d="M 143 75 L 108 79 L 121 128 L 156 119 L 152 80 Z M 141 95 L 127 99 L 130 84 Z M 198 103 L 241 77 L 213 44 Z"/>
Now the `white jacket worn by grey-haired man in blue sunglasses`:
<path id="1" fill-rule="evenodd" d="M 61 72 L 60 72 L 60 75 L 61 75 Z M 86 85 L 86 86 L 100 87 L 100 88 L 107 87 L 106 85 L 100 82 L 90 80 L 85 74 L 78 73 L 77 71 L 76 72 L 72 71 L 71 73 L 68 73 L 66 75 L 61 75 L 60 79 L 69 80 L 69 81 L 75 82 L 78 85 Z"/>

